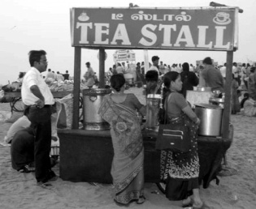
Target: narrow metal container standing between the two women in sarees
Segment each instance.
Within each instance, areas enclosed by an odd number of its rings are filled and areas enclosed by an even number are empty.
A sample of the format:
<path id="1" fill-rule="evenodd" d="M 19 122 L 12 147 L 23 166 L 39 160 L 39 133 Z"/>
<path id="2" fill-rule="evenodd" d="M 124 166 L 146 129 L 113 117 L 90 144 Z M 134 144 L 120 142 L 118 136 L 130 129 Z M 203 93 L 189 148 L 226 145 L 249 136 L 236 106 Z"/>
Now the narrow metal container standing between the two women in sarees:
<path id="1" fill-rule="evenodd" d="M 158 112 L 160 109 L 161 95 L 149 94 L 146 98 L 146 115 L 145 128 L 150 130 L 158 130 L 159 118 Z"/>

